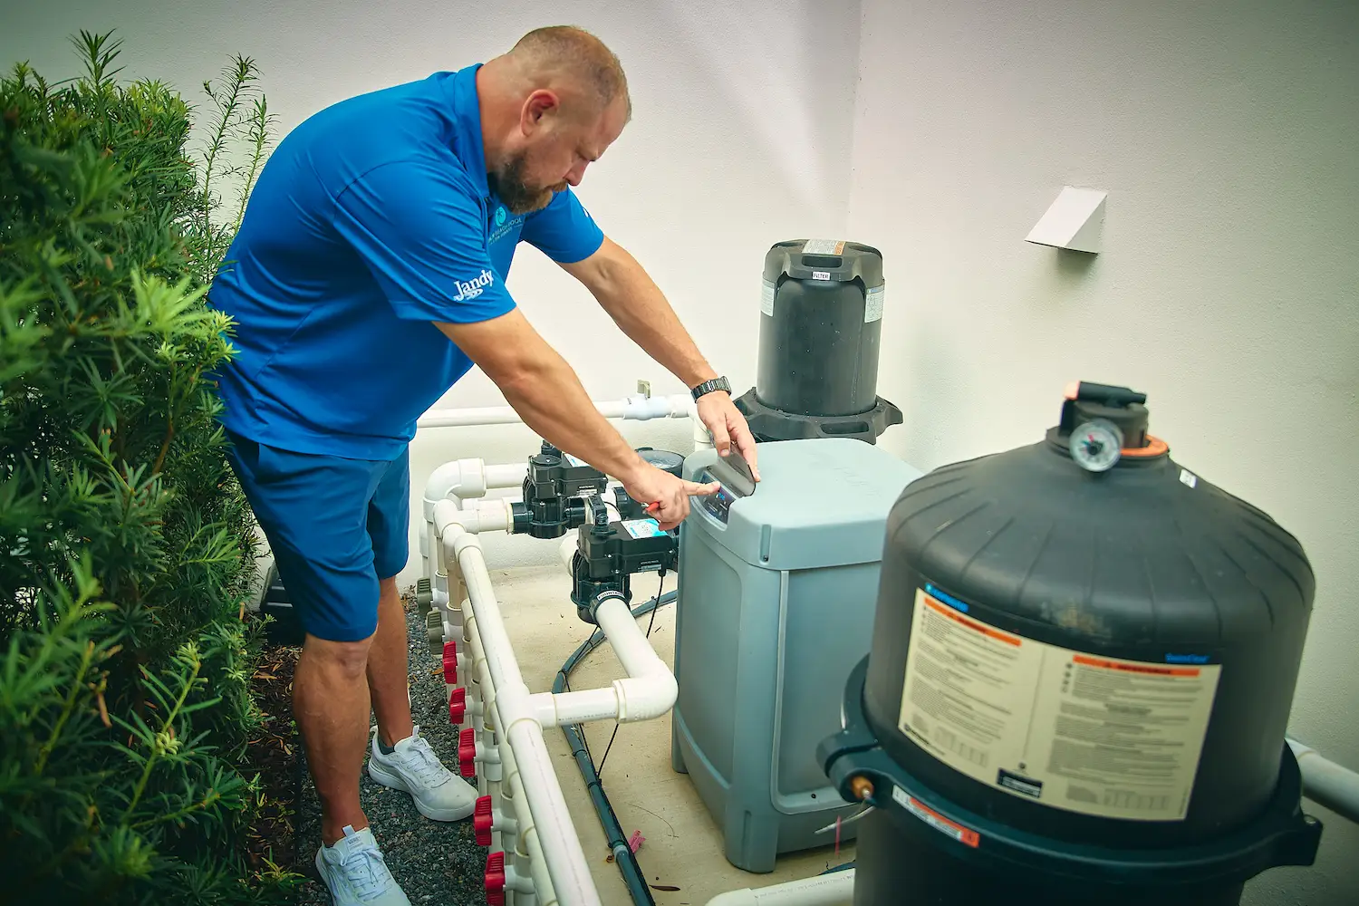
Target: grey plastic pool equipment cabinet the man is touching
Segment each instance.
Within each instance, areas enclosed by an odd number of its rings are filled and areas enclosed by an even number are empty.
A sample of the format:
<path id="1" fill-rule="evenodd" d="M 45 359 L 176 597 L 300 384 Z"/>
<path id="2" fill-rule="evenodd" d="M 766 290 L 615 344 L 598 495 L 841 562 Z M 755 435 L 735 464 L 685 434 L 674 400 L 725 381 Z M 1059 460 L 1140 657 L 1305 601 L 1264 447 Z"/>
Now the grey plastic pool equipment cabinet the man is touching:
<path id="1" fill-rule="evenodd" d="M 680 531 L 671 762 L 727 860 L 771 872 L 781 853 L 834 844 L 836 819 L 858 811 L 817 743 L 840 729 L 844 678 L 872 647 L 887 513 L 921 473 L 845 437 L 761 443 L 758 484 L 743 465 L 712 450 L 685 460 L 686 478 L 722 489 Z"/>

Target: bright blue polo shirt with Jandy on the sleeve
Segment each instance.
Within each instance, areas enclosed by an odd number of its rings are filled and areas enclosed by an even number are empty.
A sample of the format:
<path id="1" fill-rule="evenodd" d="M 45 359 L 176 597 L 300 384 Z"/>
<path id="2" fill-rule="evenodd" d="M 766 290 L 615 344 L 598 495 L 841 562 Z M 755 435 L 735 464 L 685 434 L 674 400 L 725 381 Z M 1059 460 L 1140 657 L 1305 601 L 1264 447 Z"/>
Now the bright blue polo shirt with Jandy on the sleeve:
<path id="1" fill-rule="evenodd" d="M 520 240 L 559 262 L 599 249 L 569 189 L 527 216 L 491 193 L 478 68 L 340 102 L 269 156 L 208 296 L 235 321 L 216 374 L 230 431 L 395 458 L 473 364 L 432 322 L 511 311 Z"/>

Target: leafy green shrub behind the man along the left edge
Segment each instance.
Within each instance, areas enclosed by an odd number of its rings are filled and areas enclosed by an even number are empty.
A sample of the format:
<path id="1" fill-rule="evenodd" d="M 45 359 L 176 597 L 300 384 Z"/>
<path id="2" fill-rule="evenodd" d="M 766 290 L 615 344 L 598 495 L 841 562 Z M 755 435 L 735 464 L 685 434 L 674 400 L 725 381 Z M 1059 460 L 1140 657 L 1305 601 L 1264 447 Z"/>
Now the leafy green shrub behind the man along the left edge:
<path id="1" fill-rule="evenodd" d="M 83 77 L 0 81 L 0 899 L 280 899 L 247 858 L 255 542 L 202 300 L 270 117 L 234 60 L 198 167 L 171 88 L 76 46 Z"/>

